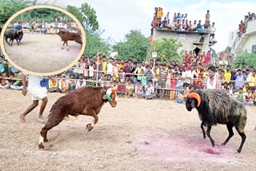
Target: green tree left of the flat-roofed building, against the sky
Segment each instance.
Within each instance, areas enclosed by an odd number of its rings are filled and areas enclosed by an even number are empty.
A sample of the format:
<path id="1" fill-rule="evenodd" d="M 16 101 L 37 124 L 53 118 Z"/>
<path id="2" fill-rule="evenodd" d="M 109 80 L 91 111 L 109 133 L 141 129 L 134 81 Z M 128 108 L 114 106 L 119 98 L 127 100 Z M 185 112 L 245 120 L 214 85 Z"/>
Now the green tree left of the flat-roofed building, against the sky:
<path id="1" fill-rule="evenodd" d="M 129 34 L 125 35 L 125 41 L 118 42 L 113 46 L 113 50 L 118 51 L 120 59 L 137 58 L 138 61 L 143 61 L 149 46 L 149 39 L 140 30 L 130 30 Z"/>

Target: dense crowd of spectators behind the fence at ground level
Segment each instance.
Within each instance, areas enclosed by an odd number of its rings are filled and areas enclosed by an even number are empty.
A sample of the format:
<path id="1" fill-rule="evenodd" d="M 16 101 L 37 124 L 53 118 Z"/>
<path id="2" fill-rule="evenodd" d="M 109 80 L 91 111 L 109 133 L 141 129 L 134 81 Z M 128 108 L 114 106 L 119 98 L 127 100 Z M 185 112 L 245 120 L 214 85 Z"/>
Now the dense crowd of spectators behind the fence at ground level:
<path id="1" fill-rule="evenodd" d="M 207 68 L 212 65 L 211 51 L 196 55 L 192 51 L 184 54 L 184 62 L 166 62 L 153 60 L 137 62 L 82 56 L 79 62 L 49 78 L 43 78 L 41 85 L 49 92 L 69 93 L 82 86 L 114 85 L 118 96 L 171 99 L 182 102 L 190 89 L 203 89 L 206 84 Z M 217 57 L 218 58 L 218 57 Z M 253 66 L 232 69 L 231 66 L 216 66 L 216 77 L 222 81 L 222 89 L 245 102 L 254 105 L 256 97 L 256 70 Z M 98 70 L 98 72 L 97 72 Z M 0 88 L 22 89 L 20 73 L 6 60 L 0 58 Z M 98 78 L 98 80 L 97 80 Z"/>

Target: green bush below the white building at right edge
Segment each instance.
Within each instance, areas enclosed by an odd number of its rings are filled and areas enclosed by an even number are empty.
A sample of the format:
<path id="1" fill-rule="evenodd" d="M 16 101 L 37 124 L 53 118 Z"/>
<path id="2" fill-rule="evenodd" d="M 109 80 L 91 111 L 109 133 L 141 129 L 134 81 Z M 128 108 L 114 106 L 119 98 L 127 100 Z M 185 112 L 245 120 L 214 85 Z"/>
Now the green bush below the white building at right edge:
<path id="1" fill-rule="evenodd" d="M 249 54 L 247 52 L 238 54 L 234 59 L 233 66 L 236 69 L 242 68 L 243 66 L 254 66 L 256 68 L 256 54 Z"/>

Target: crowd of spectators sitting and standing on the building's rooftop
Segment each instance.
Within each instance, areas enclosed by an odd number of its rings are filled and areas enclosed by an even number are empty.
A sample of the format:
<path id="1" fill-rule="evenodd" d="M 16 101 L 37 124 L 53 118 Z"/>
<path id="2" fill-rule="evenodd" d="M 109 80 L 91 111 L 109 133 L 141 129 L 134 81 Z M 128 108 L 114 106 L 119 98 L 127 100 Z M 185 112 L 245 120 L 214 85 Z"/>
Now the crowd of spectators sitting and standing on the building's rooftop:
<path id="1" fill-rule="evenodd" d="M 170 12 L 167 12 L 164 15 L 162 7 L 155 7 L 154 10 L 154 19 L 151 22 L 151 35 L 154 33 L 154 28 L 182 32 L 201 32 L 201 36 L 204 36 L 204 33 L 210 33 L 210 43 L 216 43 L 214 38 L 216 28 L 214 22 L 210 24 L 210 10 L 207 10 L 206 19 L 203 23 L 201 20 L 189 21 L 187 14 L 174 13 L 174 17 L 170 17 Z"/>

